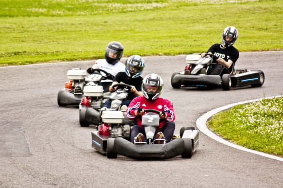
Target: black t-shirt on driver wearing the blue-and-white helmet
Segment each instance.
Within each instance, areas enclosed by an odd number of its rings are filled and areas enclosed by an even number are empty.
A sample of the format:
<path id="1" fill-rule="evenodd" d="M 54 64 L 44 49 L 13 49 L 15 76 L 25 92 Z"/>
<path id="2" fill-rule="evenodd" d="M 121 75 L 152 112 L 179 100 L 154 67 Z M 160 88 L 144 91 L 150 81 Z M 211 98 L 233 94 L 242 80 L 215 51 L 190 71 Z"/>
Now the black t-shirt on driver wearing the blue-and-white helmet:
<path id="1" fill-rule="evenodd" d="M 133 85 L 136 87 L 138 91 L 142 91 L 142 80 L 143 78 L 141 76 L 137 78 L 131 78 L 126 75 L 125 72 L 118 72 L 116 74 L 114 81 L 113 82 L 118 82 L 118 83 L 124 83 L 128 85 Z M 123 88 L 123 86 L 119 86 L 119 88 Z M 129 92 L 127 100 L 133 100 L 135 97 L 133 92 Z"/>

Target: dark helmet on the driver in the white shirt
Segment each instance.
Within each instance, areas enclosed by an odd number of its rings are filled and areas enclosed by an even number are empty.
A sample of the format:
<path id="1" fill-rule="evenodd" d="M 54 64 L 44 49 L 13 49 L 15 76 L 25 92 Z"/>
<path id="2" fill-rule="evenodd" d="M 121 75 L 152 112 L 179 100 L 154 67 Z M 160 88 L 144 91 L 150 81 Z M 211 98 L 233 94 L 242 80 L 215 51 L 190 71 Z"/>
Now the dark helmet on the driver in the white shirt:
<path id="1" fill-rule="evenodd" d="M 124 48 L 120 42 L 110 42 L 105 51 L 105 59 L 109 64 L 116 64 L 123 55 Z"/>

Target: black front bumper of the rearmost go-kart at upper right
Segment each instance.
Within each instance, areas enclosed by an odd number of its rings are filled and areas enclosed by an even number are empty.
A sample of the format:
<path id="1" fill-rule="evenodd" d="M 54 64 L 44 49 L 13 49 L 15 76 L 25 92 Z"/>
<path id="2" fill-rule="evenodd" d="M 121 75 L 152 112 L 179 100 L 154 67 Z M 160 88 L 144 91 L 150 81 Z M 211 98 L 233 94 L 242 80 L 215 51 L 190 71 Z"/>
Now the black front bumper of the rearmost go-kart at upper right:
<path id="1" fill-rule="evenodd" d="M 176 74 L 172 78 L 172 85 L 221 85 L 221 77 L 219 75 L 184 75 Z"/>

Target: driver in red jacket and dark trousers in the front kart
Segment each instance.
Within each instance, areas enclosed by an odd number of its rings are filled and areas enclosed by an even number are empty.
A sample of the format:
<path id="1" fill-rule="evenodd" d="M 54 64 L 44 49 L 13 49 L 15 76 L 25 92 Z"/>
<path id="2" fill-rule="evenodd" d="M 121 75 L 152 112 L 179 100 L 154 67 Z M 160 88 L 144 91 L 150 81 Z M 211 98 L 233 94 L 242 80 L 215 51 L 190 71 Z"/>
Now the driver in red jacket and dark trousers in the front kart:
<path id="1" fill-rule="evenodd" d="M 144 109 L 161 111 L 159 128 L 155 131 L 155 144 L 169 142 L 174 134 L 175 120 L 173 106 L 170 101 L 160 98 L 163 90 L 162 78 L 157 74 L 148 74 L 142 81 L 142 97 L 136 97 L 129 104 L 126 115 L 134 119 L 135 124 L 131 132 L 133 143 L 145 143 L 145 132 L 142 126 Z"/>

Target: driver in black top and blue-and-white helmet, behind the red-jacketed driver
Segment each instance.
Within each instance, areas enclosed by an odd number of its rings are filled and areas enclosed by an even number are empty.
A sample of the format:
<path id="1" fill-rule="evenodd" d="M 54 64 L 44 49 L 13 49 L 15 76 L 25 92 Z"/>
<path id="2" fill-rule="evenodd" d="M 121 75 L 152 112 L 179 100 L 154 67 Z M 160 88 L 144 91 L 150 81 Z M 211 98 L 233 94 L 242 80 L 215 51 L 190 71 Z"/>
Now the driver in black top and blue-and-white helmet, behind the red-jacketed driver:
<path id="1" fill-rule="evenodd" d="M 135 97 L 142 96 L 143 78 L 141 77 L 141 74 L 143 69 L 144 69 L 144 61 L 142 57 L 139 55 L 132 55 L 127 59 L 125 63 L 125 72 L 119 72 L 113 80 L 112 85 L 118 83 L 133 85 L 133 87 L 130 88 L 131 92 L 129 92 L 127 100 L 125 101 L 126 106 L 128 106 Z M 123 87 L 123 86 L 113 87 L 112 85 L 110 85 L 109 87 L 109 91 L 111 93 L 117 90 L 119 87 Z M 106 108 L 110 108 L 110 106 L 111 106 L 110 100 L 107 100 L 103 104 L 103 107 Z"/>

